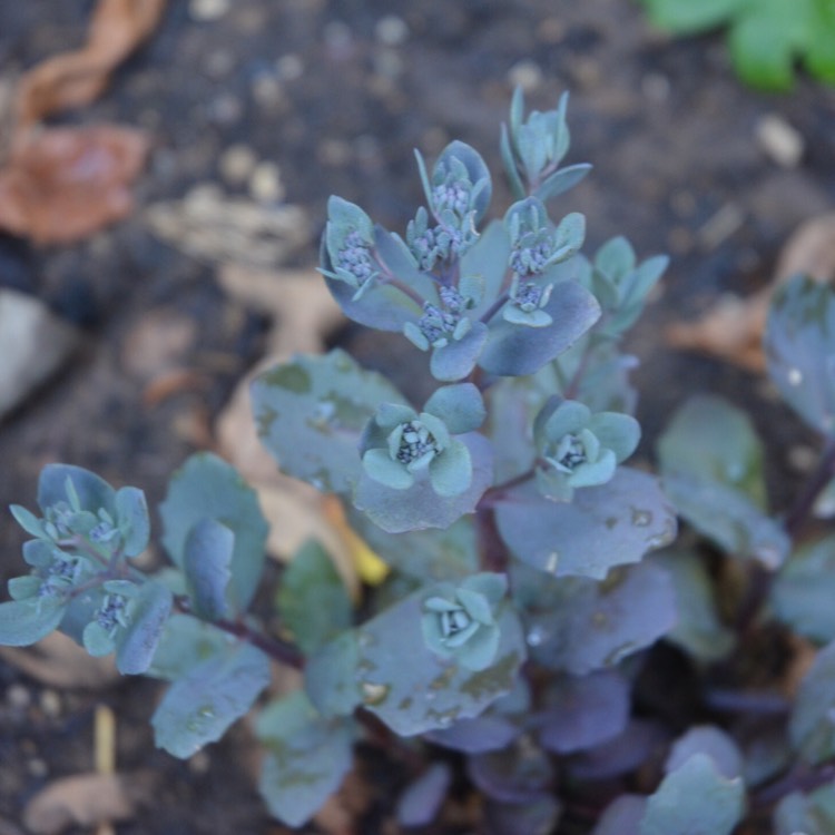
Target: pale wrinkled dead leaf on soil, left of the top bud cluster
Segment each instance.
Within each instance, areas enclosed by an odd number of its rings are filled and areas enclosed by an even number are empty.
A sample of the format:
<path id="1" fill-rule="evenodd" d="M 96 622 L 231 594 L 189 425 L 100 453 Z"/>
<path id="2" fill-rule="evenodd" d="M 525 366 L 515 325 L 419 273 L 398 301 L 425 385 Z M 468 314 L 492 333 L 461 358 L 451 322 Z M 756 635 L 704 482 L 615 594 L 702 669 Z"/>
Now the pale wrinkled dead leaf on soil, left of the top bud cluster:
<path id="1" fill-rule="evenodd" d="M 229 197 L 214 185 L 196 186 L 183 200 L 156 203 L 146 218 L 156 235 L 195 258 L 261 268 L 285 262 L 312 234 L 301 206 Z"/>

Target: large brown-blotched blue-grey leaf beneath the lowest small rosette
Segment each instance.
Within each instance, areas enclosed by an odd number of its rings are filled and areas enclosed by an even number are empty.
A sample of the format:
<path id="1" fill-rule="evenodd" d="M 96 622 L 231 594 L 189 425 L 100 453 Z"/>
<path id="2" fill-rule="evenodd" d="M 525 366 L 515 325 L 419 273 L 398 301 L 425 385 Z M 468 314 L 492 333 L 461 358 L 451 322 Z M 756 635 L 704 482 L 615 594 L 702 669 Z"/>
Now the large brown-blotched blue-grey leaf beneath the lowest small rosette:
<path id="1" fill-rule="evenodd" d="M 471 671 L 454 659 L 443 661 L 429 649 L 421 628 L 423 602 L 430 597 L 432 587 L 366 621 L 358 630 L 356 669 L 348 672 L 365 708 L 401 736 L 479 716 L 512 689 L 525 657 L 519 620 L 504 602 L 495 612 L 499 648 L 487 669 Z"/>

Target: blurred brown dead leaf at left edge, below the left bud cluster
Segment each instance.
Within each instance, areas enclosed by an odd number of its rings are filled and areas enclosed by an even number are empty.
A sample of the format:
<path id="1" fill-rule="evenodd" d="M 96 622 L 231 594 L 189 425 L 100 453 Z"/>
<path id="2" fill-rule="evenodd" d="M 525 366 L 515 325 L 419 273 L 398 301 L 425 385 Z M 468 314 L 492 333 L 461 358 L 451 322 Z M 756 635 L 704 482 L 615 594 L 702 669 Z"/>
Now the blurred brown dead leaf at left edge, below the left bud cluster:
<path id="1" fill-rule="evenodd" d="M 59 689 L 96 690 L 119 678 L 112 657 L 94 658 L 62 632 L 52 632 L 32 647 L 0 647 L 0 658 L 41 684 Z"/>

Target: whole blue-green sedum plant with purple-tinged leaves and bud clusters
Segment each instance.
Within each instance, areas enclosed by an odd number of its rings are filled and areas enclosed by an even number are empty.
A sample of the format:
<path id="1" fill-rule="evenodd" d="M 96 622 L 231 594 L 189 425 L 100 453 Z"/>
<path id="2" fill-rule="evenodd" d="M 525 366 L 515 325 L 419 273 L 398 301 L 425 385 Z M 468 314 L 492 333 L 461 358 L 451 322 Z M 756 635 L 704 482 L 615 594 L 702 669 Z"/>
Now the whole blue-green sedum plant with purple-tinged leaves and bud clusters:
<path id="1" fill-rule="evenodd" d="M 176 757 L 255 708 L 261 792 L 291 826 L 365 741 L 402 767 L 406 827 L 431 823 L 465 773 L 495 835 L 729 835 L 772 813 L 778 835 L 832 832 L 835 542 L 789 554 L 835 495 L 833 291 L 795 279 L 768 324 L 772 379 L 828 439 L 786 519 L 767 513 L 750 422 L 718 399 L 672 418 L 662 483 L 630 465 L 636 360 L 621 342 L 667 259 L 639 261 L 621 237 L 582 254 L 583 217 L 558 208 L 589 170 L 562 165 L 566 106 L 525 115 L 513 96 L 500 218 L 487 165 L 460 141 L 431 168 L 418 155 L 425 206 L 403 236 L 328 203 L 324 281 L 350 318 L 414 345 L 436 383 L 425 403 L 341 350 L 253 384 L 266 449 L 337 497 L 384 564 L 361 600 L 312 540 L 274 611 L 253 610 L 267 524 L 212 454 L 170 482 L 171 564 L 153 576 L 134 562 L 150 537 L 143 493 L 52 464 L 39 511 L 12 507 L 31 539 L 0 642 L 59 629 L 169 682 L 151 721 Z M 677 515 L 689 539 L 671 544 Z M 796 699 L 738 669 L 775 623 L 823 647 Z M 658 681 L 674 661 L 695 682 L 685 713 Z M 274 665 L 303 687 L 271 697 Z"/>

